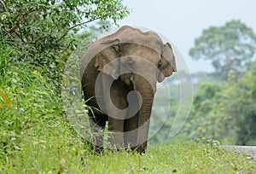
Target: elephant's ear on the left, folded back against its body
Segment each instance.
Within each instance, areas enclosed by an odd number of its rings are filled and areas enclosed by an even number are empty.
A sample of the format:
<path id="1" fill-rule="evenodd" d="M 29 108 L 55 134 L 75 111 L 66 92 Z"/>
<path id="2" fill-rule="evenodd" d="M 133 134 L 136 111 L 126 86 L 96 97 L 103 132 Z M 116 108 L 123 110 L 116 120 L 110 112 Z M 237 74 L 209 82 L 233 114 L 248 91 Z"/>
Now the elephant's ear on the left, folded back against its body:
<path id="1" fill-rule="evenodd" d="M 98 71 L 107 73 L 116 79 L 119 74 L 119 63 L 113 60 L 119 57 L 119 39 L 103 40 L 100 44 L 102 44 L 104 49 L 95 56 L 95 67 Z"/>

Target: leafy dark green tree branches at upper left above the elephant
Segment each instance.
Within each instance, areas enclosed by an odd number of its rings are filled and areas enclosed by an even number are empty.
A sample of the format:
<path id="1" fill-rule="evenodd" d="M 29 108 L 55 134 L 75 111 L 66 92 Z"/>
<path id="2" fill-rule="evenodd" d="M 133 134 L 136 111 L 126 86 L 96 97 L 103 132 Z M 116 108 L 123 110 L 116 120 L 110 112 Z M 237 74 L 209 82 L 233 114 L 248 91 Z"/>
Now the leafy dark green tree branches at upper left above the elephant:
<path id="1" fill-rule="evenodd" d="M 59 75 L 79 29 L 94 20 L 117 24 L 127 14 L 122 0 L 1 0 L 1 44 L 11 47 L 15 61 L 46 66 Z"/>

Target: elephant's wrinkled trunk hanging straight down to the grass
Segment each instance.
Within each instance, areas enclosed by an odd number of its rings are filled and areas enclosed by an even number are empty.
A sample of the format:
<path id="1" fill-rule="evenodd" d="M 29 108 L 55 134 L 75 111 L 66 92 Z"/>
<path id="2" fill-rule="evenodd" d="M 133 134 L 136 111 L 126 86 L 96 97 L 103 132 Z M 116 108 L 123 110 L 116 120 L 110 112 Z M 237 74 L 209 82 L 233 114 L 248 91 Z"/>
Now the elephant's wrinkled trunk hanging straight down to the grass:
<path id="1" fill-rule="evenodd" d="M 152 86 L 145 78 L 139 77 L 138 84 L 133 84 L 134 90 L 140 93 L 142 106 L 138 115 L 138 131 L 137 131 L 137 144 L 139 145 L 137 151 L 143 153 L 147 148 L 148 143 L 148 130 L 151 109 L 154 99 L 154 85 Z"/>

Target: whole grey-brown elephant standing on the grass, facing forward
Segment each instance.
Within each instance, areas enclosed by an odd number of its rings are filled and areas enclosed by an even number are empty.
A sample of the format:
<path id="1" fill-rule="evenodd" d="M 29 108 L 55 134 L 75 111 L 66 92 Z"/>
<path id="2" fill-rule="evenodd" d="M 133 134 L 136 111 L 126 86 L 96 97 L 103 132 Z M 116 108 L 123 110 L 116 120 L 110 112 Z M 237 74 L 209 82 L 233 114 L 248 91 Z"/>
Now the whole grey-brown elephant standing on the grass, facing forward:
<path id="1" fill-rule="evenodd" d="M 89 113 L 91 128 L 97 132 L 108 121 L 108 130 L 113 132 L 108 141 L 113 148 L 131 147 L 143 153 L 156 82 L 172 72 L 176 72 L 172 47 L 163 44 L 154 32 L 122 26 L 97 40 L 85 52 L 80 66 L 84 100 L 91 98 L 87 104 L 103 111 Z M 134 90 L 137 92 L 131 92 Z M 94 137 L 96 150 L 102 149 L 102 138 Z"/>

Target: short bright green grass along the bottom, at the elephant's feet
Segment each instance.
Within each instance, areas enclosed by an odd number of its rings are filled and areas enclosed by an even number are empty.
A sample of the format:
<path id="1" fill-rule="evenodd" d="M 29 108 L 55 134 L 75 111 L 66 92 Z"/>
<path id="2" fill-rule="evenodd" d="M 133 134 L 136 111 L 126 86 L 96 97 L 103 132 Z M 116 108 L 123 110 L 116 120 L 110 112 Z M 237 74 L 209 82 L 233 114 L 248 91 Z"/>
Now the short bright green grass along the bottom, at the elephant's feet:
<path id="1" fill-rule="evenodd" d="M 1 173 L 255 173 L 255 160 L 209 144 L 183 142 L 148 148 L 146 154 L 92 154 L 68 131 L 26 137 L 19 150 L 0 159 Z"/>

